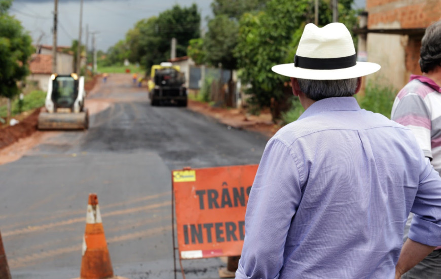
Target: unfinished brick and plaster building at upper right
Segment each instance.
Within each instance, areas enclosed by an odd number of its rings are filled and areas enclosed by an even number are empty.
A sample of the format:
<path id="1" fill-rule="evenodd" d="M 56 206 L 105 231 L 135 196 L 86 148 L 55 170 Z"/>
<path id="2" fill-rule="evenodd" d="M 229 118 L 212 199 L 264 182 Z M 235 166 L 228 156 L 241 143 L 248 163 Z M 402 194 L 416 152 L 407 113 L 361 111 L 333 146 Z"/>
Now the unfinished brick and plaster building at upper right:
<path id="1" fill-rule="evenodd" d="M 367 61 L 381 70 L 367 77 L 400 89 L 411 74 L 421 74 L 418 64 L 425 28 L 441 19 L 439 0 L 366 0 Z"/>

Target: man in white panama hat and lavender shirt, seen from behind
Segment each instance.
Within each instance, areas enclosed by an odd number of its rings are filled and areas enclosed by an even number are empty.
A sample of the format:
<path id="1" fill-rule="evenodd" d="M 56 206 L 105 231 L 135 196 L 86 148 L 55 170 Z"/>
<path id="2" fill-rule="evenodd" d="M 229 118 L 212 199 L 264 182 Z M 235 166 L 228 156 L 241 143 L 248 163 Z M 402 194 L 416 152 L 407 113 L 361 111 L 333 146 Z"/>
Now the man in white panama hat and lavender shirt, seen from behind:
<path id="1" fill-rule="evenodd" d="M 353 97 L 379 69 L 341 23 L 306 25 L 294 63 L 272 68 L 305 112 L 265 148 L 236 278 L 399 278 L 441 245 L 438 173 L 408 128 Z"/>

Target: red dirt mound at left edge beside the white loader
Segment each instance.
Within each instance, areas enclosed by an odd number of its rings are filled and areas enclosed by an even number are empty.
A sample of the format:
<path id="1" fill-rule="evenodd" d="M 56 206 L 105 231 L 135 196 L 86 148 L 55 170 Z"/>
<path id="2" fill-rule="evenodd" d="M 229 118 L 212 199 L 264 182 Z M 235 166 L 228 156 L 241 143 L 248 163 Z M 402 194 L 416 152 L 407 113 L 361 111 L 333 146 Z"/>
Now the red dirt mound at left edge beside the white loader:
<path id="1" fill-rule="evenodd" d="M 18 124 L 3 128 L 0 132 L 0 149 L 7 147 L 20 140 L 20 138 L 29 136 L 35 132 L 39 114 L 40 109 L 36 109 Z"/>

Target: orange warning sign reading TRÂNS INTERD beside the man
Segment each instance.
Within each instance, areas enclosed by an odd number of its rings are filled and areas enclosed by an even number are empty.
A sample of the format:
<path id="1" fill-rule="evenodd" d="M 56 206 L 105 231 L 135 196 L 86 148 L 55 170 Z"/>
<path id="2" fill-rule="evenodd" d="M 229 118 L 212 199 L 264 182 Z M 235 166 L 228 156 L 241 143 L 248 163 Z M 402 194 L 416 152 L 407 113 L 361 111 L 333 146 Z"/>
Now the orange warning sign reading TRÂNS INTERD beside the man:
<path id="1" fill-rule="evenodd" d="M 238 256 L 259 165 L 172 171 L 181 259 Z"/>

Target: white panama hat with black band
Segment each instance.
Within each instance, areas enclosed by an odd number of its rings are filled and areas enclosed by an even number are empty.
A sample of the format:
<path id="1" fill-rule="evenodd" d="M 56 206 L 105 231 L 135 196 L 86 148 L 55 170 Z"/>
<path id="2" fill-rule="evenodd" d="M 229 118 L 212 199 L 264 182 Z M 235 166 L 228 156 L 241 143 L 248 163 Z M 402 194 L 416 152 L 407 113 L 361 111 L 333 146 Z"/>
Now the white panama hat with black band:
<path id="1" fill-rule="evenodd" d="M 275 73 L 299 79 L 343 80 L 377 72 L 380 65 L 357 62 L 354 43 L 343 23 L 319 28 L 309 23 L 303 30 L 294 63 L 275 65 Z"/>

